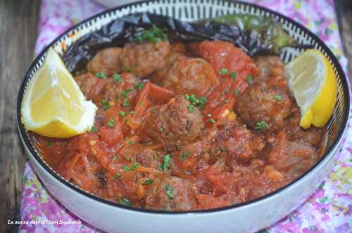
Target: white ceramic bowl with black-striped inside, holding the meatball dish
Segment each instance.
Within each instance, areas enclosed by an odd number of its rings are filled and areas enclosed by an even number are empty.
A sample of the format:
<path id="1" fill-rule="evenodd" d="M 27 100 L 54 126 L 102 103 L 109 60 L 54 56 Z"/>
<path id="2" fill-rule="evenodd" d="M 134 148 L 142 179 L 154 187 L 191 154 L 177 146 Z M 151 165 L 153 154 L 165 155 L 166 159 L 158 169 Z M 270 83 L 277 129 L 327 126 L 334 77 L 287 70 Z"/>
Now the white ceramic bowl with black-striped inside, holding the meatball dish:
<path id="1" fill-rule="evenodd" d="M 255 232 L 271 225 L 300 206 L 329 174 L 334 163 L 334 154 L 346 131 L 349 109 L 348 84 L 333 53 L 315 34 L 289 18 L 259 6 L 227 0 L 159 0 L 121 6 L 84 20 L 63 33 L 49 46 L 59 53 L 63 53 L 65 47 L 61 47 L 61 42 L 65 42 L 69 46 L 84 34 L 99 29 L 101 25 L 105 25 L 115 18 L 142 11 L 168 14 L 187 21 L 211 18 L 227 13 L 270 15 L 277 18 L 299 43 L 310 44 L 325 53 L 333 65 L 338 86 L 337 106 L 335 106 L 334 115 L 327 127 L 325 155 L 313 168 L 286 187 L 237 206 L 172 213 L 121 206 L 118 203 L 100 199 L 66 181 L 52 170 L 41 157 L 37 137 L 29 134 L 20 122 L 20 103 L 23 99 L 23 93 L 27 83 L 42 65 L 45 49 L 28 70 L 20 87 L 17 103 L 18 131 L 30 162 L 45 187 L 72 213 L 107 232 Z M 194 13 L 190 15 L 186 11 Z M 68 37 L 68 34 L 73 34 L 73 37 Z M 280 55 L 285 62 L 289 62 L 302 51 L 303 49 L 287 48 Z"/>

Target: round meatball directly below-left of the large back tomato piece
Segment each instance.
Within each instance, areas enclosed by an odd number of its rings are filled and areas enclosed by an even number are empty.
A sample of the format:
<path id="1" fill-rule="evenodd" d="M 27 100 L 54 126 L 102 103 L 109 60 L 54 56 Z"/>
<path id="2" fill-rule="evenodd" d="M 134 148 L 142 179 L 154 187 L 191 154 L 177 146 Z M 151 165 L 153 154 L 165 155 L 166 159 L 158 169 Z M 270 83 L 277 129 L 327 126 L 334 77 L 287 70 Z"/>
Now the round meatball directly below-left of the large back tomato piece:
<path id="1" fill-rule="evenodd" d="M 162 85 L 177 94 L 206 96 L 218 82 L 213 67 L 206 60 L 180 56 L 168 70 Z"/>

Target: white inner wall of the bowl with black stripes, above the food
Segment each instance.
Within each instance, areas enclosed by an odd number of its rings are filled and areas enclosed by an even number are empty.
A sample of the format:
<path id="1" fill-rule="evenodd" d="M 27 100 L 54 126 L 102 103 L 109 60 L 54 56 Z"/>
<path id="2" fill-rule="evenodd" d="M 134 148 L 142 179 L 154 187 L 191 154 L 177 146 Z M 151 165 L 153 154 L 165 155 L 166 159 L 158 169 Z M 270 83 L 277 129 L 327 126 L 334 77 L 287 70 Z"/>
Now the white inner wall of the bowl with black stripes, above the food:
<path id="1" fill-rule="evenodd" d="M 348 120 L 349 110 L 349 94 L 348 84 L 344 71 L 341 69 L 337 58 L 327 48 L 327 46 L 313 34 L 308 31 L 305 27 L 295 23 L 293 20 L 284 17 L 278 13 L 255 6 L 252 4 L 227 1 L 227 0 L 159 0 L 159 1 L 144 1 L 136 4 L 128 4 L 113 10 L 106 11 L 100 15 L 96 15 L 88 20 L 84 20 L 82 23 L 75 26 L 73 29 L 68 30 L 56 39 L 49 46 L 52 46 L 58 53 L 63 53 L 68 46 L 73 44 L 77 39 L 82 37 L 84 34 L 98 30 L 102 25 L 105 25 L 115 18 L 119 18 L 123 15 L 127 15 L 135 12 L 150 12 L 162 15 L 169 15 L 184 21 L 194 21 L 203 18 L 213 18 L 220 15 L 227 15 L 230 13 L 251 13 L 253 15 L 267 15 L 273 18 L 277 18 L 280 23 L 291 37 L 296 39 L 300 44 L 307 44 L 313 46 L 315 49 L 320 50 L 327 56 L 329 62 L 332 64 L 334 73 L 337 77 L 337 104 L 334 108 L 334 114 L 329 120 L 327 125 L 327 135 L 325 137 L 325 153 L 322 158 L 337 145 L 337 141 L 342 136 L 344 129 L 346 128 Z M 281 51 L 280 57 L 285 63 L 288 63 L 304 49 L 285 48 Z M 27 132 L 23 125 L 20 123 L 20 103 L 23 98 L 23 93 L 27 87 L 28 82 L 33 77 L 34 73 L 37 72 L 39 67 L 42 65 L 44 60 L 45 51 L 43 51 L 32 64 L 30 70 L 28 70 L 25 80 L 20 88 L 18 96 L 18 124 L 20 128 L 20 134 L 25 137 L 25 144 L 36 153 L 35 158 L 41 160 L 41 164 L 46 167 L 46 170 L 51 170 L 51 173 L 57 175 L 61 180 L 64 180 L 55 170 L 51 169 L 50 166 L 42 159 L 42 149 L 39 147 L 38 139 L 35 134 Z M 321 161 L 321 160 L 320 160 Z M 320 163 L 320 162 L 318 162 Z M 71 184 L 75 186 L 74 184 Z M 80 189 L 80 187 L 76 187 Z M 82 190 L 82 189 L 81 189 Z M 82 190 L 83 191 L 83 190 Z M 87 191 L 84 191 L 87 192 Z"/>

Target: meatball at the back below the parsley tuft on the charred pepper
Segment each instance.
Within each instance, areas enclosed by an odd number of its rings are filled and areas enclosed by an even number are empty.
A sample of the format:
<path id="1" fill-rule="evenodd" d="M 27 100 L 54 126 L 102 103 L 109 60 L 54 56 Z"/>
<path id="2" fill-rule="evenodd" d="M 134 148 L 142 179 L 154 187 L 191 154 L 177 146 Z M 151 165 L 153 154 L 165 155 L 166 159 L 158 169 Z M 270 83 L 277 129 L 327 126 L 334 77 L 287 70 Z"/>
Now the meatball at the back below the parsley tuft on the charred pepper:
<path id="1" fill-rule="evenodd" d="M 131 68 L 131 72 L 144 78 L 151 73 L 161 70 L 167 65 L 170 54 L 169 42 L 156 44 L 126 44 L 122 48 L 122 64 L 124 68 Z"/>

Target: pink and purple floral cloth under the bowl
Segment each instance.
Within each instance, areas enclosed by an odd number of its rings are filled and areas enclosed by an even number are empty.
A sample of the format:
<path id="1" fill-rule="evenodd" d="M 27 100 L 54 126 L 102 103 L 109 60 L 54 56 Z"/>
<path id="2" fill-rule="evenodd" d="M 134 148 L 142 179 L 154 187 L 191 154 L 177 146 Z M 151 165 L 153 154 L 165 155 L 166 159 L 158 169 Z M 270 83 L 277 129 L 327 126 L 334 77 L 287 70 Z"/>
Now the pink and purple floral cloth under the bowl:
<path id="1" fill-rule="evenodd" d="M 253 3 L 279 11 L 318 34 L 336 54 L 344 70 L 347 60 L 341 51 L 341 42 L 334 15 L 333 0 L 253 0 Z M 35 53 L 75 23 L 103 11 L 105 8 L 94 1 L 43 0 L 40 13 L 39 37 Z M 319 9 L 319 10 L 318 10 Z M 351 116 L 350 116 L 351 118 Z M 348 134 L 336 165 L 315 193 L 298 209 L 264 232 L 352 232 L 352 119 Z M 23 199 L 20 208 L 21 220 L 78 220 L 49 194 L 29 163 L 23 177 Z M 43 224 L 20 225 L 25 232 L 101 232 L 86 222 L 71 225 Z"/>

